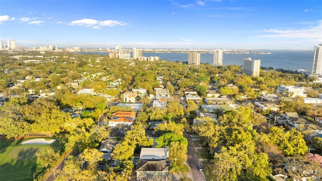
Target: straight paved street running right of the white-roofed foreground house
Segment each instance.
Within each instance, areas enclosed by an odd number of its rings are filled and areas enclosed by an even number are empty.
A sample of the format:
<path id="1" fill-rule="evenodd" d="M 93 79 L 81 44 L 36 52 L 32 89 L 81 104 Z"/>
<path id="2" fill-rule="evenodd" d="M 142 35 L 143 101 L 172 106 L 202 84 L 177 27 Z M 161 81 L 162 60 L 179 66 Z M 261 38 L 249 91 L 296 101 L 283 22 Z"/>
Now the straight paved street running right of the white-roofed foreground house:
<path id="1" fill-rule="evenodd" d="M 192 180 L 195 180 L 195 181 L 206 180 L 203 172 L 199 171 L 199 169 L 198 169 L 198 165 L 200 165 L 199 157 L 196 153 L 195 146 L 193 144 L 191 136 L 188 135 L 187 133 L 184 133 L 184 137 L 187 138 L 187 140 L 188 140 L 187 163 L 190 167 L 190 173 L 191 173 Z"/>

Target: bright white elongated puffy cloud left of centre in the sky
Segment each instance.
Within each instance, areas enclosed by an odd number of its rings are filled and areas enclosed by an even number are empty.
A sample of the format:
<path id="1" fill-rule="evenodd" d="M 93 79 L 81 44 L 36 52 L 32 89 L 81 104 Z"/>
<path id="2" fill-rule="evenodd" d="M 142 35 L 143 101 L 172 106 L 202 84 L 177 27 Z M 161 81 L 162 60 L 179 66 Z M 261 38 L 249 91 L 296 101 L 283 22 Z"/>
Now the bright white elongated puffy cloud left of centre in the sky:
<path id="1" fill-rule="evenodd" d="M 102 27 L 124 26 L 126 23 L 116 20 L 97 21 L 94 19 L 82 19 L 72 21 L 68 25 L 87 26 L 94 29 L 101 29 Z"/>

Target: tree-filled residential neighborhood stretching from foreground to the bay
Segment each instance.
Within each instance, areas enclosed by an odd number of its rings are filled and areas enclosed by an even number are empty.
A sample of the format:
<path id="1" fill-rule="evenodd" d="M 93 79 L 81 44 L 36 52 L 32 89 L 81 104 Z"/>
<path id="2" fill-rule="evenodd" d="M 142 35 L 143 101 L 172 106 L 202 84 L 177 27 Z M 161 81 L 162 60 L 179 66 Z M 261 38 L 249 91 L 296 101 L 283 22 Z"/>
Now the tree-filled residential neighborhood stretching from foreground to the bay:
<path id="1" fill-rule="evenodd" d="M 71 52 L 32 63 L 9 55 L 1 55 L 2 141 L 60 140 L 46 154 L 61 159 L 34 160 L 49 170 L 40 180 L 72 180 L 70 168 L 75 180 L 321 179 L 322 90 L 313 78 Z"/>

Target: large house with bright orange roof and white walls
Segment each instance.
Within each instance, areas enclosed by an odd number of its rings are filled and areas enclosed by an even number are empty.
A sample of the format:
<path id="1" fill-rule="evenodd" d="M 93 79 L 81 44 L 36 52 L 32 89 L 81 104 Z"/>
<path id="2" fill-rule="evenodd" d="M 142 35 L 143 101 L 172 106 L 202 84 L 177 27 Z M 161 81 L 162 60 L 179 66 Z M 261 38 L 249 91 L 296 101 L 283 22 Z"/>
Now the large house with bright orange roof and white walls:
<path id="1" fill-rule="evenodd" d="M 109 127 L 117 125 L 132 125 L 136 116 L 135 111 L 116 111 L 109 120 Z"/>

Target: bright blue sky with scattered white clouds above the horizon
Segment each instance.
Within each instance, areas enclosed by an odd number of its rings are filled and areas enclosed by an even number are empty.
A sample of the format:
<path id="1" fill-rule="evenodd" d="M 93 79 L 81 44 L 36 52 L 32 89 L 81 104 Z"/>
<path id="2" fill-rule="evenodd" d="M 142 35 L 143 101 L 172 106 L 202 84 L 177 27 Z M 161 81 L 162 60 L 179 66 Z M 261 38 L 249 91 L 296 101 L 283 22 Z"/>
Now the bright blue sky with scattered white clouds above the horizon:
<path id="1" fill-rule="evenodd" d="M 0 1 L 0 39 L 24 47 L 305 49 L 320 0 Z"/>

